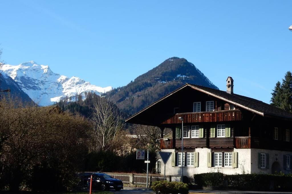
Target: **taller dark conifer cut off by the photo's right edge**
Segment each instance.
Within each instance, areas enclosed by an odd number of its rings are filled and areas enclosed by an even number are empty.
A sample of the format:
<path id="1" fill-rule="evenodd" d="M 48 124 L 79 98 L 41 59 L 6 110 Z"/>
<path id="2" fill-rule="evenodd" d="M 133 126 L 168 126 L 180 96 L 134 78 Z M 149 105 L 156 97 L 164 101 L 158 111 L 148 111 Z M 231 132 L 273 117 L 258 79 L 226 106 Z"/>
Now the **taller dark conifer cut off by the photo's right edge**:
<path id="1" fill-rule="evenodd" d="M 292 74 L 288 71 L 285 75 L 285 79 L 281 85 L 281 106 L 280 108 L 292 112 Z"/>

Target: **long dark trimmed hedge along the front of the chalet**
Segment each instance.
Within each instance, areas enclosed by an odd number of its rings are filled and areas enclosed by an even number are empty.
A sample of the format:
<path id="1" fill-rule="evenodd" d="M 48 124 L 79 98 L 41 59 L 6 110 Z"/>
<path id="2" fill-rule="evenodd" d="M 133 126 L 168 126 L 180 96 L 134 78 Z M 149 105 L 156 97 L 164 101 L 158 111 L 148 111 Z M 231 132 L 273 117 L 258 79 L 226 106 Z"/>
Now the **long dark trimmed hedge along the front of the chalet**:
<path id="1" fill-rule="evenodd" d="M 218 186 L 241 188 L 245 190 L 287 190 L 292 189 L 292 174 L 235 174 L 225 175 L 221 172 L 195 174 L 192 184 L 199 187 Z"/>

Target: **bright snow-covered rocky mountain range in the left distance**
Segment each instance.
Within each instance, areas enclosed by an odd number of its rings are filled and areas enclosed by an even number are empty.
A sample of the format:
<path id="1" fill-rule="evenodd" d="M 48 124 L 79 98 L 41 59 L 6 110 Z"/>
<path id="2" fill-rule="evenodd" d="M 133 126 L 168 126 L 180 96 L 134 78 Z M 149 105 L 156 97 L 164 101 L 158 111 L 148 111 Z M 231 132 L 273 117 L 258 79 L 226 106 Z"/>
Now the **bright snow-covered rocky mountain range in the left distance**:
<path id="1" fill-rule="evenodd" d="M 112 90 L 111 86 L 102 88 L 90 84 L 79 77 L 68 78 L 51 71 L 48 65 L 34 61 L 20 65 L 3 65 L 1 68 L 18 83 L 20 88 L 40 106 L 51 105 L 62 97 L 74 97 L 83 92 L 101 93 Z"/>

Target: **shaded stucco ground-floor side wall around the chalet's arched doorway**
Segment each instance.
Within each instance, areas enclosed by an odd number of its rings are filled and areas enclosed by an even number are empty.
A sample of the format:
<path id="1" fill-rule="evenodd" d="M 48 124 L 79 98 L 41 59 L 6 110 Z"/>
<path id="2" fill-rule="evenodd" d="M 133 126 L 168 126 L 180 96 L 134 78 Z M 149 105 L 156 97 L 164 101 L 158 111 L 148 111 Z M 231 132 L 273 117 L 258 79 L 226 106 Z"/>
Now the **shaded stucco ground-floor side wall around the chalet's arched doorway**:
<path id="1" fill-rule="evenodd" d="M 269 154 L 269 168 L 263 169 L 258 168 L 258 153 L 268 153 Z M 283 166 L 283 156 L 292 155 L 292 152 L 278 151 L 278 150 L 268 150 L 268 149 L 251 149 L 251 173 L 272 173 L 272 165 L 274 162 L 279 162 L 281 172 L 285 174 L 292 173 L 291 170 L 285 170 Z M 290 161 L 291 163 L 292 161 Z"/>

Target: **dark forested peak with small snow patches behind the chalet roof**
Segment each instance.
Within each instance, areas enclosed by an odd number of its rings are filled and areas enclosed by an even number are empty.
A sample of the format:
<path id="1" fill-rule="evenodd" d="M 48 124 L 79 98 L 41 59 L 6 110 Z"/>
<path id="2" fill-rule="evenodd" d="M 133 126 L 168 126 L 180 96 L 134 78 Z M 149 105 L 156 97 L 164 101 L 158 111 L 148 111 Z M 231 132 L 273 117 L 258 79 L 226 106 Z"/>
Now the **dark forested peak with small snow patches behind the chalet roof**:
<path id="1" fill-rule="evenodd" d="M 185 83 L 218 89 L 194 64 L 172 57 L 128 85 L 104 93 L 124 113 L 132 115 Z"/>

